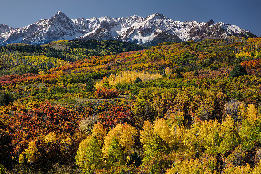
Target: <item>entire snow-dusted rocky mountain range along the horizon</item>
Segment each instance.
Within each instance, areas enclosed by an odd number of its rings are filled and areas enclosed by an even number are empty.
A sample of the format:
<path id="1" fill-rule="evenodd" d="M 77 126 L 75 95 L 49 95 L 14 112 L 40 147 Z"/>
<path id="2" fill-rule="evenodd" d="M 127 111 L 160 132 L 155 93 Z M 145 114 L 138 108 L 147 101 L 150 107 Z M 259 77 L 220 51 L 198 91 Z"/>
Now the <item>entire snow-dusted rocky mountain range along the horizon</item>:
<path id="1" fill-rule="evenodd" d="M 0 25 L 1 31 L 1 25 Z M 145 45 L 161 42 L 226 38 L 227 36 L 257 37 L 238 26 L 197 21 L 179 22 L 155 13 L 146 18 L 77 18 L 72 20 L 58 11 L 51 19 L 41 19 L 23 28 L 0 32 L 0 45 L 8 43 L 45 44 L 53 40 L 122 40 Z"/>

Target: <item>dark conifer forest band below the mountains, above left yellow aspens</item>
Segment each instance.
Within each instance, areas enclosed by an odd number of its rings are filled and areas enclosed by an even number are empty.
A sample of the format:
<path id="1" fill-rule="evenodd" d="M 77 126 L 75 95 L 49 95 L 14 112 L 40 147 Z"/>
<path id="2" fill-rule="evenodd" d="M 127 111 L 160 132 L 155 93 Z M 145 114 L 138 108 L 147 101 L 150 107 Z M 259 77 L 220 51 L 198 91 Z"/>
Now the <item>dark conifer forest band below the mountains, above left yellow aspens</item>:
<path id="1" fill-rule="evenodd" d="M 51 47 L 56 44 L 66 45 L 69 48 L 55 49 Z M 3 47 L 0 46 L 0 52 L 21 51 L 36 55 L 44 55 L 46 57 L 56 57 L 68 62 L 73 62 L 90 56 L 118 54 L 126 51 L 143 50 L 148 48 L 149 47 L 145 45 L 138 45 L 118 40 L 59 40 L 45 45 L 29 45 L 21 43 L 8 44 Z"/>

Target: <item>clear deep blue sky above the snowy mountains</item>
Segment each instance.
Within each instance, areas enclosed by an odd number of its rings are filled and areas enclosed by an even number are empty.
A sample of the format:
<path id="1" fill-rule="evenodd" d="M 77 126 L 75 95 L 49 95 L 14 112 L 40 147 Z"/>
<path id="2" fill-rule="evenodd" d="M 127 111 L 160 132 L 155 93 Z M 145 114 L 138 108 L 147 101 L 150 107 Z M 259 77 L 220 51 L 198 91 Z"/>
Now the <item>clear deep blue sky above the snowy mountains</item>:
<path id="1" fill-rule="evenodd" d="M 0 0 L 0 24 L 21 28 L 62 11 L 71 19 L 84 17 L 147 17 L 161 13 L 175 21 L 211 19 L 237 25 L 261 36 L 261 0 Z"/>

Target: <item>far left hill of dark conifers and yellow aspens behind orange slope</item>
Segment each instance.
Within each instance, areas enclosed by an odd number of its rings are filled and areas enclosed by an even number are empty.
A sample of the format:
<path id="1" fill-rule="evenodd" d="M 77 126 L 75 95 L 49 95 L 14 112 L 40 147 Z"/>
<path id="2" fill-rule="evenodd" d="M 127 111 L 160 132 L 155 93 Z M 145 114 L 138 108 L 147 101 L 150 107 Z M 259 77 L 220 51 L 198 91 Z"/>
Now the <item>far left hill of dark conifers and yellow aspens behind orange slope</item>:
<path id="1" fill-rule="evenodd" d="M 146 48 L 149 47 L 116 40 L 60 40 L 45 45 L 13 43 L 4 47 L 0 46 L 0 76 L 43 73 L 90 56 L 110 55 Z"/>

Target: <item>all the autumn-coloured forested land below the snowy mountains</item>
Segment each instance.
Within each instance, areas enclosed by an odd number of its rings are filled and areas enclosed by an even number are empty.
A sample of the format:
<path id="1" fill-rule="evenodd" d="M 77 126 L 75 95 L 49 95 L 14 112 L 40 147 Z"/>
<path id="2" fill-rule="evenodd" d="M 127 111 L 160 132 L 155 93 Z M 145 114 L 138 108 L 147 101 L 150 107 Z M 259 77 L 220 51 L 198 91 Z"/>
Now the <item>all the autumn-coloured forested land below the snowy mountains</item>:
<path id="1" fill-rule="evenodd" d="M 260 37 L 129 44 L 0 47 L 0 173 L 261 171 Z"/>

